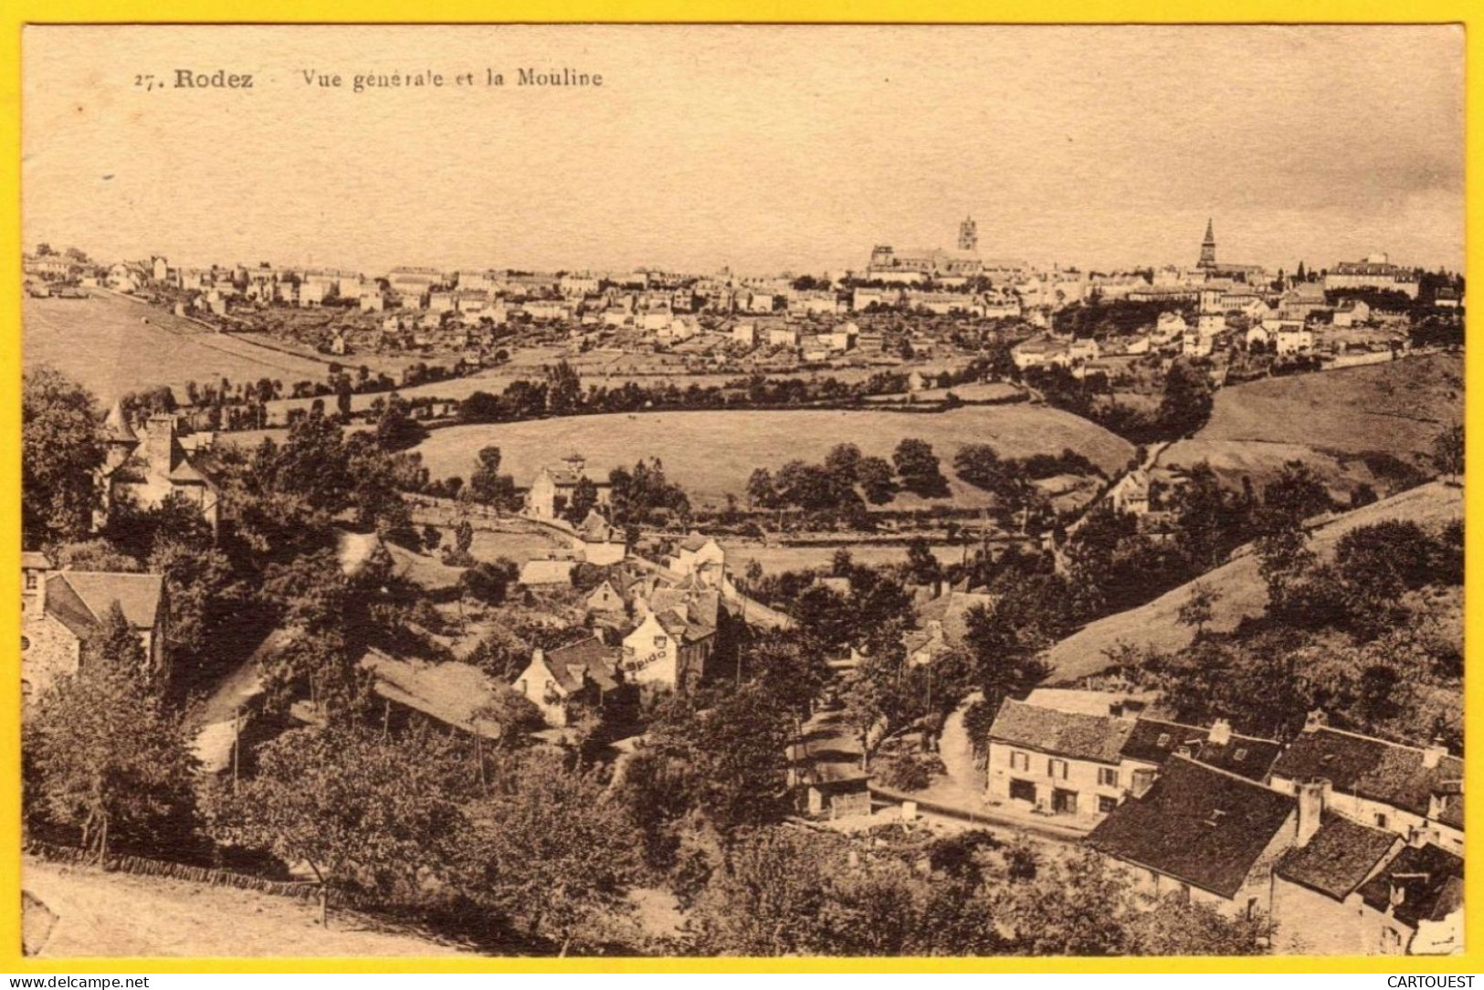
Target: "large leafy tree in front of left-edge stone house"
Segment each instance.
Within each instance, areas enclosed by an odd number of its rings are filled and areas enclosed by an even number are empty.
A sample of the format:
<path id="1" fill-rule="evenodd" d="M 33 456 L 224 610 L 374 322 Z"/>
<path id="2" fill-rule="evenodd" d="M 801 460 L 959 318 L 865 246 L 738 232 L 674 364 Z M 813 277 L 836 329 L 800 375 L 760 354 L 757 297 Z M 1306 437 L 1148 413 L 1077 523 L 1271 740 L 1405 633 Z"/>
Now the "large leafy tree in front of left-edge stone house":
<path id="1" fill-rule="evenodd" d="M 180 855 L 194 830 L 194 758 L 180 720 L 141 690 L 137 659 L 99 662 L 111 638 L 91 643 L 79 672 L 27 715 L 27 815 L 76 830 L 99 861 L 111 845 Z"/>

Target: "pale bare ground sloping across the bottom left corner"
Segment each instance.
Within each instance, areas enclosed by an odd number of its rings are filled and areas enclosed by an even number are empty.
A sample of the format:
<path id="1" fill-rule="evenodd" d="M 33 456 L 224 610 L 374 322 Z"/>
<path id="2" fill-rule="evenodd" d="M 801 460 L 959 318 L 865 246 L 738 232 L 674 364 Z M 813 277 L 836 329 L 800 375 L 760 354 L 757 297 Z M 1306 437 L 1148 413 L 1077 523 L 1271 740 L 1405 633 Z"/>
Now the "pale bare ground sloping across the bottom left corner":
<path id="1" fill-rule="evenodd" d="M 456 947 L 309 901 L 27 856 L 27 943 L 40 956 L 448 956 Z M 37 922 L 37 917 L 42 920 Z M 46 922 L 50 922 L 49 931 Z"/>

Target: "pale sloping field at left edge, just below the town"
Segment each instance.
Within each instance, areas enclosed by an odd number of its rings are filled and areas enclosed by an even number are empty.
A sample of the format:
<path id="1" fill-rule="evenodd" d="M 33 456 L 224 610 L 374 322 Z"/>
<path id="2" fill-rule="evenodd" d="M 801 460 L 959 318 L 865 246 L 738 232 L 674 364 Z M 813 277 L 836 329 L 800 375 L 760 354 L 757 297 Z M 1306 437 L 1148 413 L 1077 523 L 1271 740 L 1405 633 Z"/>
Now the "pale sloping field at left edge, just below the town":
<path id="1" fill-rule="evenodd" d="M 148 319 L 145 324 L 144 321 Z M 214 334 L 157 306 L 93 289 L 85 300 L 31 298 L 21 310 L 22 364 L 50 364 L 104 405 L 125 392 L 187 381 L 319 380 L 325 365 Z"/>

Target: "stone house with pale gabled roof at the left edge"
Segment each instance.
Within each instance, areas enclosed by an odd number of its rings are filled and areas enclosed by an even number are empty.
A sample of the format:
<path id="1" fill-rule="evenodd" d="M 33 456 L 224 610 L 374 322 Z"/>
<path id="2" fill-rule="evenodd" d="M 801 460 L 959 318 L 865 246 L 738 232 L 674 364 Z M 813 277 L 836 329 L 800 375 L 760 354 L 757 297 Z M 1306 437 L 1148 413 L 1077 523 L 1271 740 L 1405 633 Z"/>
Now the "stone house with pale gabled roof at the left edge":
<path id="1" fill-rule="evenodd" d="M 21 696 L 30 702 L 82 665 L 83 641 L 114 603 L 139 635 L 145 674 L 166 677 L 165 579 L 160 574 L 53 571 L 45 554 L 21 560 Z"/>

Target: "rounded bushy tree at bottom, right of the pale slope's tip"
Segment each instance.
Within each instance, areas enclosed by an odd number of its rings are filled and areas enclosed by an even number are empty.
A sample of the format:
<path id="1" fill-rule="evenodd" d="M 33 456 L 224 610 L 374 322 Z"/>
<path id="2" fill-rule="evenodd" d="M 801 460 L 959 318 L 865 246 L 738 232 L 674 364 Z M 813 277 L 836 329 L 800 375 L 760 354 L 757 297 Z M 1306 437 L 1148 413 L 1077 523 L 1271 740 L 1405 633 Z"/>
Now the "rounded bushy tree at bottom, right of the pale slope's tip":
<path id="1" fill-rule="evenodd" d="M 470 818 L 459 889 L 522 920 L 558 956 L 601 947 L 611 937 L 605 926 L 632 911 L 640 836 L 595 773 L 568 770 L 543 751 L 512 755 L 494 776 L 494 794 L 475 803 Z"/>

